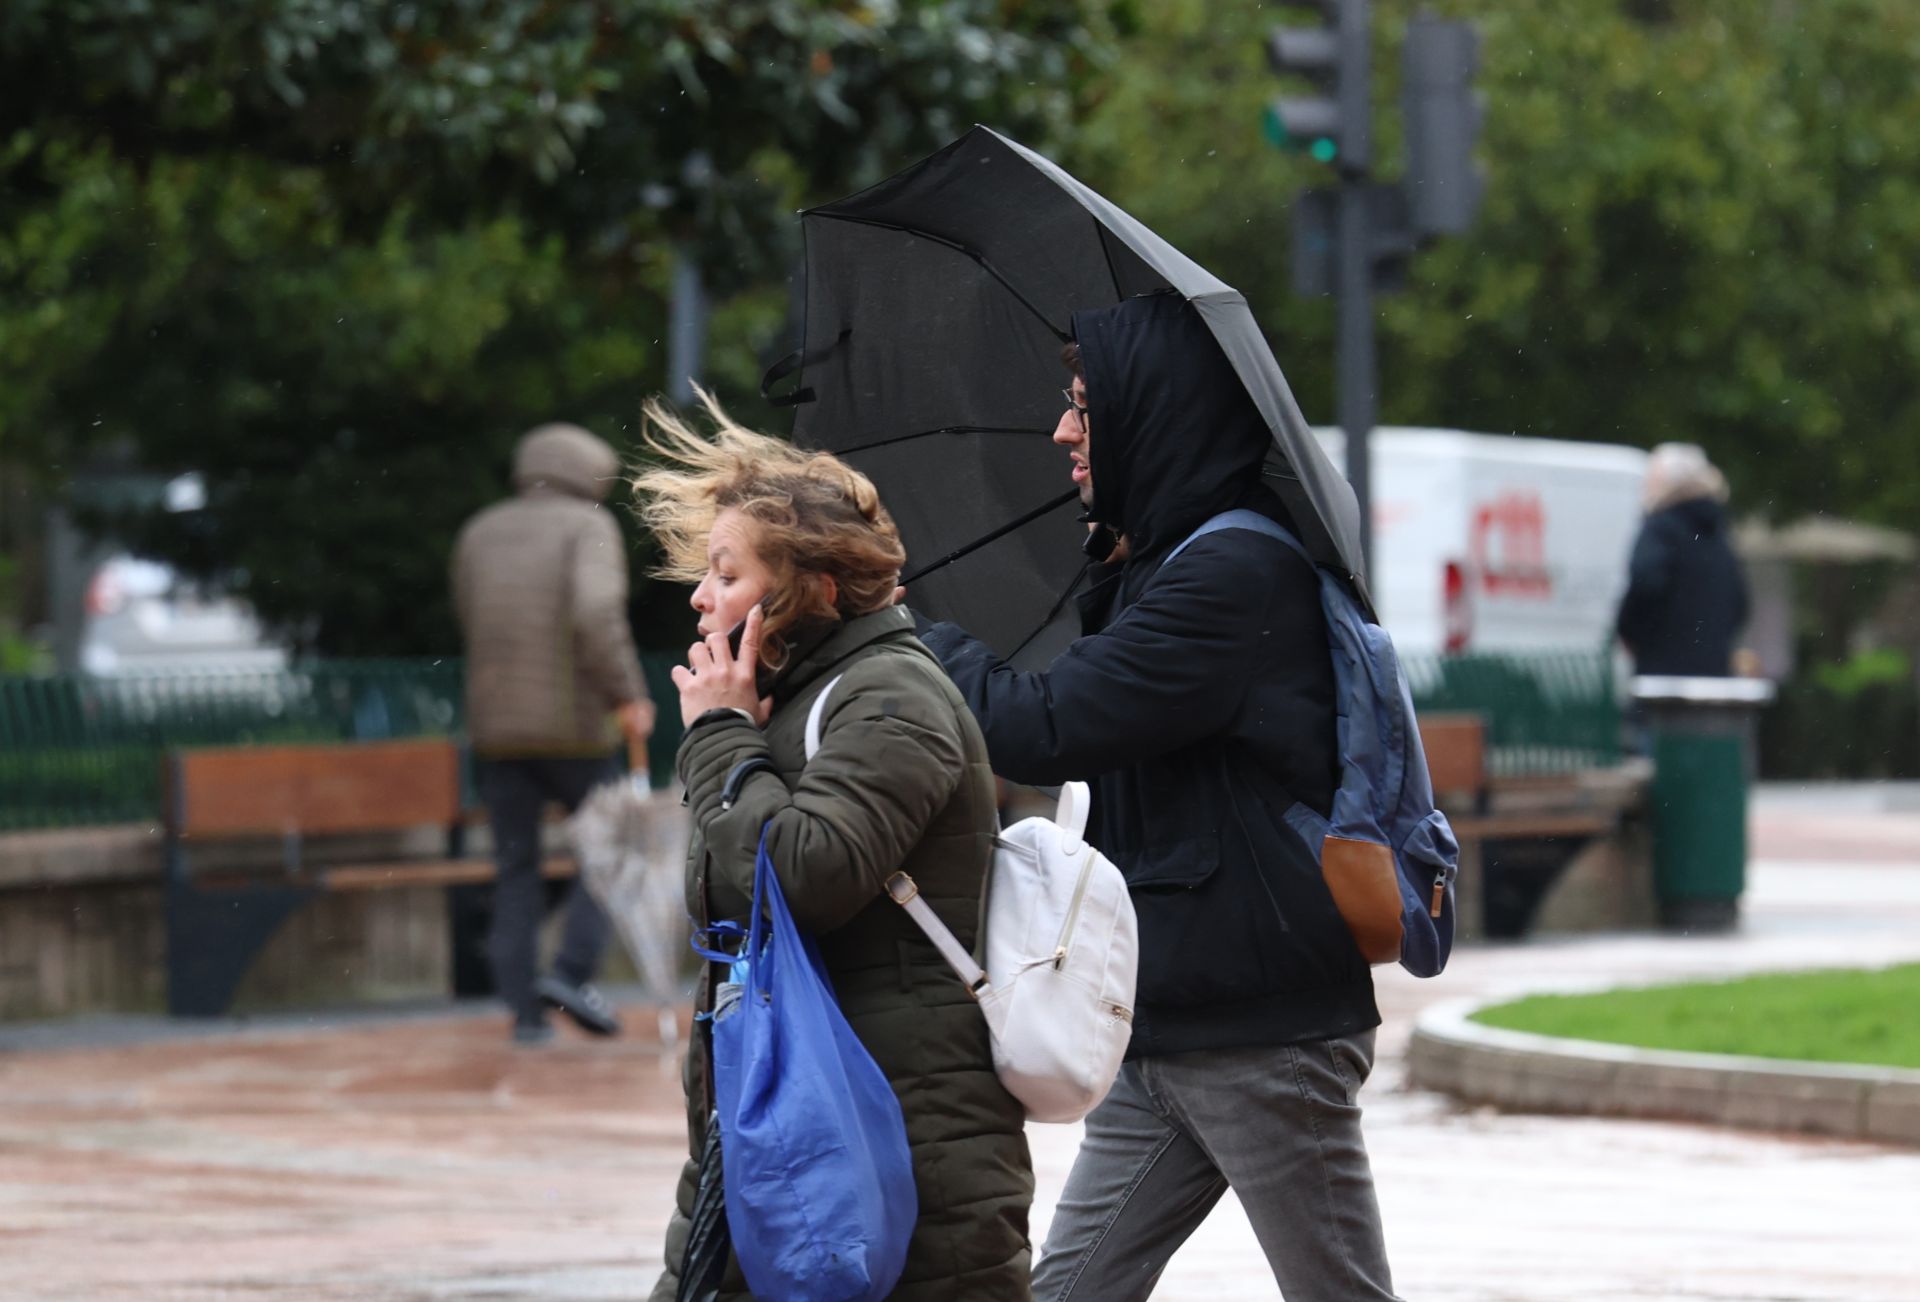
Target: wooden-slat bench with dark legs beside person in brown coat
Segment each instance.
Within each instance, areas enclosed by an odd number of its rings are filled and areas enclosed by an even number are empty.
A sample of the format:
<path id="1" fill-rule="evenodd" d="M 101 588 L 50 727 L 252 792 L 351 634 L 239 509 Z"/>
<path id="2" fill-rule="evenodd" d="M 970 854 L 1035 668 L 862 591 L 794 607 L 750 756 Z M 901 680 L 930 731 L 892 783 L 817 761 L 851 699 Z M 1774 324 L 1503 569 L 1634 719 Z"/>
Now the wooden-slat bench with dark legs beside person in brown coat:
<path id="1" fill-rule="evenodd" d="M 480 812 L 463 801 L 461 770 L 461 751 L 447 739 L 171 753 L 167 1010 L 227 1012 L 280 924 L 332 891 L 445 887 L 455 933 L 453 989 L 490 987 L 474 945 L 474 918 L 486 901 L 474 893 L 493 881 L 493 860 L 465 855 L 467 826 Z M 338 855 L 344 837 L 390 833 L 390 841 L 392 833 L 419 828 L 444 833 L 434 853 L 367 862 Z M 213 847 L 221 862 L 196 866 L 194 858 Z M 547 858 L 541 872 L 568 878 L 574 862 Z"/>

